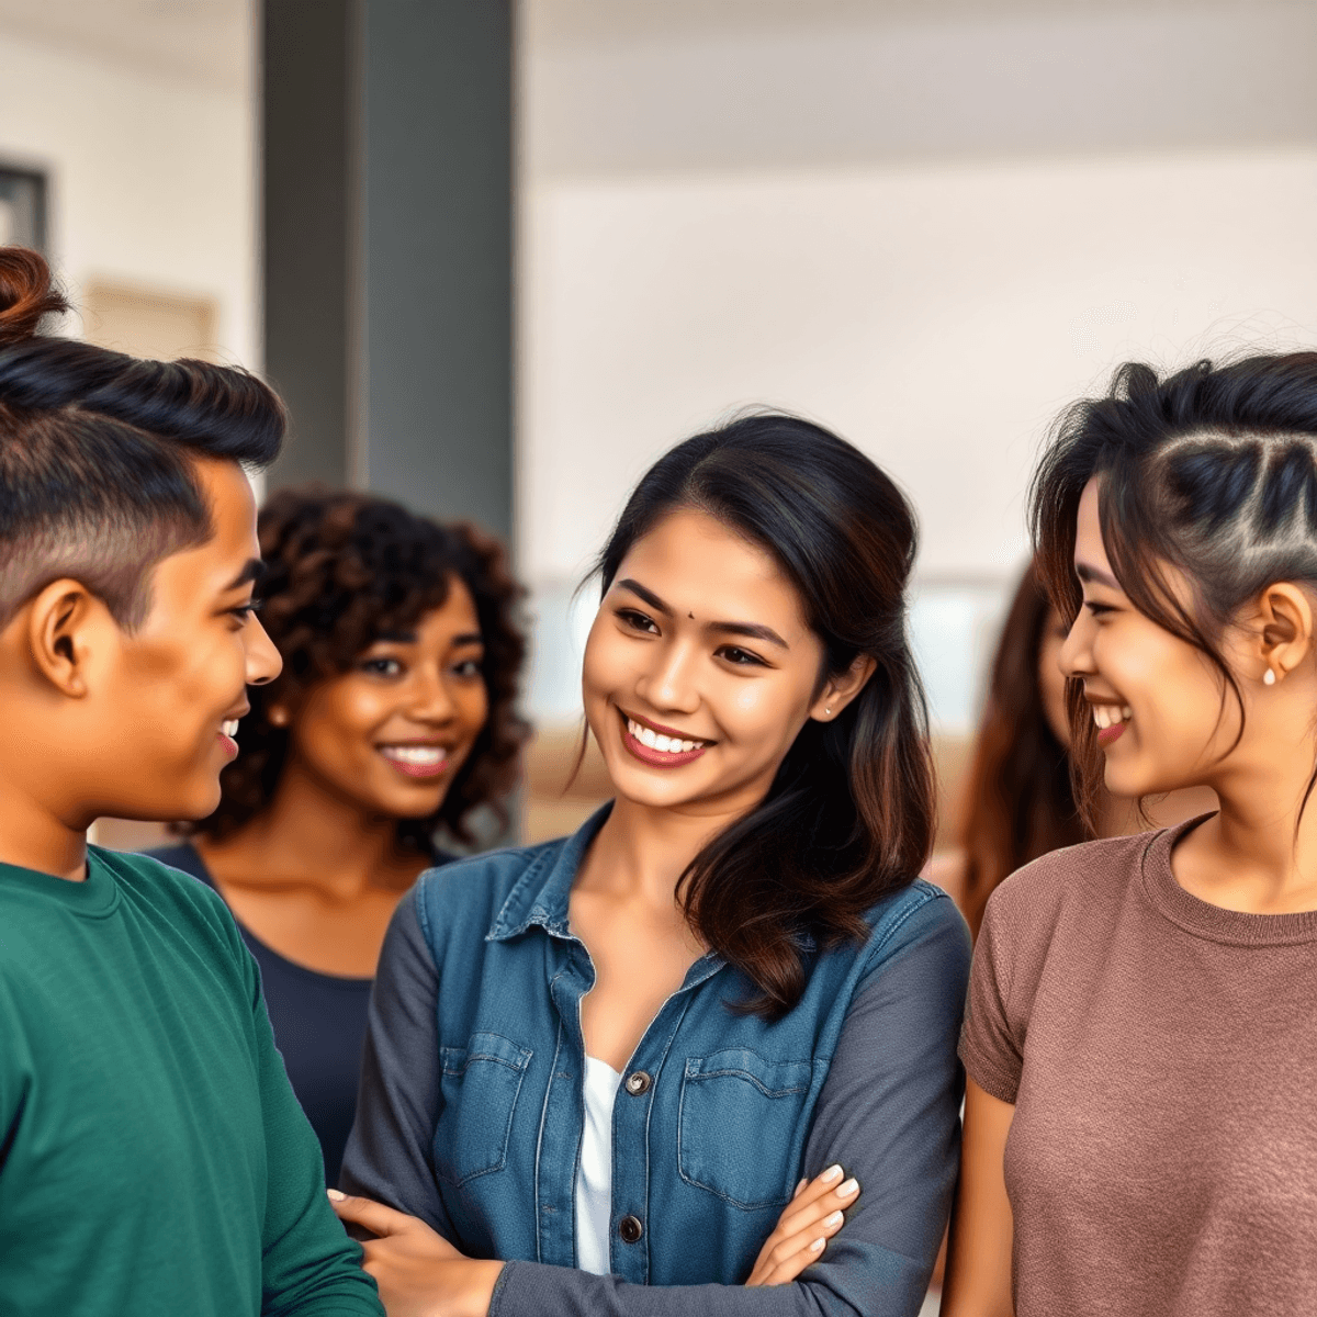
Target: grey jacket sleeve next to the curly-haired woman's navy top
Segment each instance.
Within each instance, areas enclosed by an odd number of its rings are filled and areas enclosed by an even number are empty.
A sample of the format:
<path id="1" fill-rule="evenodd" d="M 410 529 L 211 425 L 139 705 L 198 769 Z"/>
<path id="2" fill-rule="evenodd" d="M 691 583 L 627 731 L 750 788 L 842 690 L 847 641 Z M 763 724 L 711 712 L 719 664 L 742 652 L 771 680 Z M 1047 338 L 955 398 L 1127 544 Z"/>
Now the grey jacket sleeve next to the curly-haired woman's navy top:
<path id="1" fill-rule="evenodd" d="M 379 954 L 357 1119 L 338 1187 L 420 1217 L 452 1239 L 431 1159 L 439 1115 L 437 993 L 439 971 L 412 889 L 398 902 Z"/>

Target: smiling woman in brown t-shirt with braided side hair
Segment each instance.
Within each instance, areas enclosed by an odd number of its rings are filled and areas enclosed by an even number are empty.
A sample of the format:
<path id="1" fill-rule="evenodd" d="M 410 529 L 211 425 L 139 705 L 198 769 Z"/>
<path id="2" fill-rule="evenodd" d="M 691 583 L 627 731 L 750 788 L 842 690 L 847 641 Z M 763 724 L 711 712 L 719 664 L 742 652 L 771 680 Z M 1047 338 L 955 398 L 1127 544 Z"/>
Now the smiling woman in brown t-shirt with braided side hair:
<path id="1" fill-rule="evenodd" d="M 1033 516 L 1088 801 L 1221 810 L 988 902 L 944 1317 L 1317 1310 L 1317 353 L 1122 367 Z"/>

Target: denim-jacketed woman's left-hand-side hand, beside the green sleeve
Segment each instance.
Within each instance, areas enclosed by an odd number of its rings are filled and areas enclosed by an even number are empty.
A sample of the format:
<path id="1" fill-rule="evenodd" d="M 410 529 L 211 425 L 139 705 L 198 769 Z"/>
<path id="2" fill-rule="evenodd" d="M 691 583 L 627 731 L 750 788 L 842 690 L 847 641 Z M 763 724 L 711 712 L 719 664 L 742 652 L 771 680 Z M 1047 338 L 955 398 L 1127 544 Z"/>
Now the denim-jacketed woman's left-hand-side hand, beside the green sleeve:
<path id="1" fill-rule="evenodd" d="M 379 1285 L 389 1317 L 489 1317 L 500 1262 L 464 1258 L 424 1221 L 370 1198 L 329 1191 L 340 1221 L 365 1226 L 363 1267 Z"/>

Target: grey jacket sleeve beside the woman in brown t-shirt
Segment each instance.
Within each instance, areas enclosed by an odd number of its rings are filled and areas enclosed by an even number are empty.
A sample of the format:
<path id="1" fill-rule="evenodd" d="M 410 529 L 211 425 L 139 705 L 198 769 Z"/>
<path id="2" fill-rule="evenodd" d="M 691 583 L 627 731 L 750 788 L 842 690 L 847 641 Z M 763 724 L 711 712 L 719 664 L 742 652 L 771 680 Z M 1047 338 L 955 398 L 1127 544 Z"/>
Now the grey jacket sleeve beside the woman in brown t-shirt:
<path id="1" fill-rule="evenodd" d="M 510 1262 L 490 1317 L 914 1317 L 951 1210 L 964 1075 L 956 1035 L 969 932 L 939 896 L 861 980 L 819 1096 L 805 1171 L 839 1162 L 860 1197 L 822 1260 L 789 1285 L 627 1284 Z"/>

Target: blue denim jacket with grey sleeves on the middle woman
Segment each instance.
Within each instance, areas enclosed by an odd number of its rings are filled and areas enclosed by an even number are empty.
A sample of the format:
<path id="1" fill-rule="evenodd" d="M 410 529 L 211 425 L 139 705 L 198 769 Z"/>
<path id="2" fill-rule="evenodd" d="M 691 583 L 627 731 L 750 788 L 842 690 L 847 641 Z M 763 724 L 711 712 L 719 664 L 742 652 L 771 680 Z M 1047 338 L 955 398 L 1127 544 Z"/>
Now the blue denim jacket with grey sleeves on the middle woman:
<path id="1" fill-rule="evenodd" d="M 806 948 L 805 994 L 772 1023 L 730 1009 L 751 985 L 719 956 L 691 965 L 618 1092 L 614 1275 L 564 1270 L 594 982 L 568 900 L 606 813 L 572 838 L 421 877 L 381 961 L 345 1187 L 425 1217 L 470 1256 L 514 1260 L 497 1313 L 603 1313 L 630 1310 L 606 1293 L 619 1287 L 739 1285 L 797 1180 L 840 1160 L 861 1196 L 810 1268 L 847 1271 L 826 1287 L 846 1301 L 824 1310 L 869 1310 L 860 1296 L 881 1280 L 884 1313 L 917 1312 L 956 1171 L 968 975 L 964 922 L 918 881 L 869 911 L 863 946 Z M 549 1264 L 522 1268 L 524 1300 L 518 1262 Z M 554 1284 L 581 1292 L 553 1300 Z"/>

